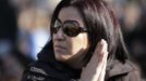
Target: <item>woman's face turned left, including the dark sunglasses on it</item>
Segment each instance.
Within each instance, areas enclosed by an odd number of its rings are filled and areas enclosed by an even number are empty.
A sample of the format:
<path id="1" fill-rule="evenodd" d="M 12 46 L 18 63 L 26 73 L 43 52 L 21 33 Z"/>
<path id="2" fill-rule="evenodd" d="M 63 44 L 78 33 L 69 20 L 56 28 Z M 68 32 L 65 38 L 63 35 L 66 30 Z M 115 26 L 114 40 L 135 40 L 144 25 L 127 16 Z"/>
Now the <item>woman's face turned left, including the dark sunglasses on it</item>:
<path id="1" fill-rule="evenodd" d="M 76 27 L 86 29 L 80 12 L 73 8 L 63 8 L 58 16 L 59 21 L 54 23 L 58 30 L 53 32 L 53 50 L 57 60 L 70 63 L 85 55 L 88 46 L 87 32 L 76 33 Z M 75 29 L 74 29 L 75 27 Z M 72 36 L 73 35 L 73 36 Z"/>

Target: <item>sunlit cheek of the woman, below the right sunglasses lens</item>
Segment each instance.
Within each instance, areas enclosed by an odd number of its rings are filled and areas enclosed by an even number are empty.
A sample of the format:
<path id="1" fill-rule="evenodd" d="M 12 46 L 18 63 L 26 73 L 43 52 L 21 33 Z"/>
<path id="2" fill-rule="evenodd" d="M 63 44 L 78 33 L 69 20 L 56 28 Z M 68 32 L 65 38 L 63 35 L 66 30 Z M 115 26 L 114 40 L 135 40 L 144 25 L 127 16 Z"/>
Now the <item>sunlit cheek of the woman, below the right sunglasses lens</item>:
<path id="1" fill-rule="evenodd" d="M 80 33 L 77 37 L 72 38 L 72 53 L 76 54 L 81 50 L 86 50 L 88 46 L 87 35 Z"/>

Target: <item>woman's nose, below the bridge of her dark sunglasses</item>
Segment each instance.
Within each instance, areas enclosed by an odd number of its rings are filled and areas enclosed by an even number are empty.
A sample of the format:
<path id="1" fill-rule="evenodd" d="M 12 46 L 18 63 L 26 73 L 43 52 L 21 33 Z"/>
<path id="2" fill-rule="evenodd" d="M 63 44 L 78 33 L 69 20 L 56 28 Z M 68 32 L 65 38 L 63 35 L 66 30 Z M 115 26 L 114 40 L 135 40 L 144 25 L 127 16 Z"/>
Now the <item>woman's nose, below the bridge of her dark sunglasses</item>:
<path id="1" fill-rule="evenodd" d="M 57 33 L 53 33 L 53 39 L 58 41 L 62 41 L 65 39 L 62 28 L 60 28 Z"/>

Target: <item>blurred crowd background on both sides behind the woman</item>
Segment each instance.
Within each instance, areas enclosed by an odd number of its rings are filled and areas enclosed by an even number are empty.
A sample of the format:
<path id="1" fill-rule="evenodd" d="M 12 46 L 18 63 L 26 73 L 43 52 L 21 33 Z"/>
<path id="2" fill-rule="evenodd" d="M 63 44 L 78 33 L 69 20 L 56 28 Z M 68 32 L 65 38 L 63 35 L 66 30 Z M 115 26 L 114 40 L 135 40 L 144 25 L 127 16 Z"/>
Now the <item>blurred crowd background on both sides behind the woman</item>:
<path id="1" fill-rule="evenodd" d="M 0 0 L 0 81 L 20 81 L 24 68 L 50 40 L 60 0 Z M 107 0 L 120 21 L 131 60 L 146 81 L 146 0 Z"/>

